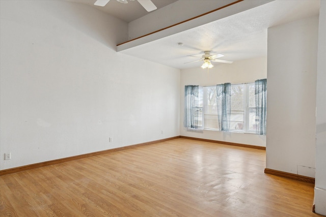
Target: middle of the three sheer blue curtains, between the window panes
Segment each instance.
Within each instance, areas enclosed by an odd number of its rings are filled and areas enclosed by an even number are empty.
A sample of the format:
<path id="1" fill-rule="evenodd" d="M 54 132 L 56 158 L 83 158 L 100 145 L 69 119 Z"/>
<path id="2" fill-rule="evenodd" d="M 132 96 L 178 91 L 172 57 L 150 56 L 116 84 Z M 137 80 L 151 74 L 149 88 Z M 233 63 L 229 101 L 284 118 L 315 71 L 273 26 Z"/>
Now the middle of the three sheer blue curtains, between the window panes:
<path id="1" fill-rule="evenodd" d="M 231 116 L 231 83 L 216 85 L 216 102 L 220 131 L 230 130 Z"/>

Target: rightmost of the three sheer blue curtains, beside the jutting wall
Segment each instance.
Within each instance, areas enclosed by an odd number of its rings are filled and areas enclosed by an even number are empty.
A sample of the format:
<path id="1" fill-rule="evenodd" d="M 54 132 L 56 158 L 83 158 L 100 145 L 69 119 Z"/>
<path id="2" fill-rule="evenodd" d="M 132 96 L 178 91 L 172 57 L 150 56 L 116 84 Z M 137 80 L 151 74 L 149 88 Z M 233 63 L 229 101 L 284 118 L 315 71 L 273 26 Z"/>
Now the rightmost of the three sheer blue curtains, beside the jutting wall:
<path id="1" fill-rule="evenodd" d="M 266 135 L 266 87 L 267 79 L 255 81 L 256 134 Z"/>

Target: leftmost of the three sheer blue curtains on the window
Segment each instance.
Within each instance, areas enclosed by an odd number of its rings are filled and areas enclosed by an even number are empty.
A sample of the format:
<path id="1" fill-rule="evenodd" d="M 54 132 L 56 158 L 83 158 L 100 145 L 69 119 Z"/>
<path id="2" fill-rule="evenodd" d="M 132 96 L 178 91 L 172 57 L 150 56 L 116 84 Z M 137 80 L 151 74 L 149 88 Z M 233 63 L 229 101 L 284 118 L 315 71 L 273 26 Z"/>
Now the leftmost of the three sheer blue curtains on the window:
<path id="1" fill-rule="evenodd" d="M 198 89 L 196 85 L 184 86 L 184 121 L 186 128 L 198 128 Z"/>

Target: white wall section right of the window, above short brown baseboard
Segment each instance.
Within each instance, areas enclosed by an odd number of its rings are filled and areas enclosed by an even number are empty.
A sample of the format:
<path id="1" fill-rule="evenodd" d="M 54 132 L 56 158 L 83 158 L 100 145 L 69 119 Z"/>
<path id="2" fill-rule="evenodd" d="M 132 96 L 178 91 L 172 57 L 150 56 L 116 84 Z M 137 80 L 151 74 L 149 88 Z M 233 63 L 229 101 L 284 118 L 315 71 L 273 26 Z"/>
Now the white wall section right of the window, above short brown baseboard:
<path id="1" fill-rule="evenodd" d="M 266 168 L 315 176 L 318 17 L 268 29 Z"/>

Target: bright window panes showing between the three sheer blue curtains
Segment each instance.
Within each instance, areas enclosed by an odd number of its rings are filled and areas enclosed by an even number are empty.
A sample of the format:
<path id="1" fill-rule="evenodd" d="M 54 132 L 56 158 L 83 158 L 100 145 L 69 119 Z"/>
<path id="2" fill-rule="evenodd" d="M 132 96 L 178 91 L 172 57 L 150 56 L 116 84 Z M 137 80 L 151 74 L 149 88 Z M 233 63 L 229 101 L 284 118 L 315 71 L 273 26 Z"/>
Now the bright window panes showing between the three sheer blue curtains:
<path id="1" fill-rule="evenodd" d="M 198 88 L 198 129 L 219 130 L 216 85 Z M 255 83 L 231 84 L 229 131 L 255 133 Z"/>

